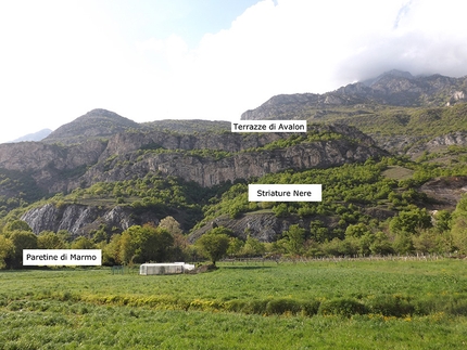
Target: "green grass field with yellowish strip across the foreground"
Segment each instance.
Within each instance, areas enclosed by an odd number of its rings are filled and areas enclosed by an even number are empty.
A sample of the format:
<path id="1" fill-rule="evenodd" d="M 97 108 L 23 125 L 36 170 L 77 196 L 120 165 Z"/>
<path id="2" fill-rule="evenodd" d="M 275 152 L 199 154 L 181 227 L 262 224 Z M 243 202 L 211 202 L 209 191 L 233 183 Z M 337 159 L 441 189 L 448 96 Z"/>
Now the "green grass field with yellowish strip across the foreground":
<path id="1" fill-rule="evenodd" d="M 0 272 L 0 349 L 465 349 L 466 261 Z"/>

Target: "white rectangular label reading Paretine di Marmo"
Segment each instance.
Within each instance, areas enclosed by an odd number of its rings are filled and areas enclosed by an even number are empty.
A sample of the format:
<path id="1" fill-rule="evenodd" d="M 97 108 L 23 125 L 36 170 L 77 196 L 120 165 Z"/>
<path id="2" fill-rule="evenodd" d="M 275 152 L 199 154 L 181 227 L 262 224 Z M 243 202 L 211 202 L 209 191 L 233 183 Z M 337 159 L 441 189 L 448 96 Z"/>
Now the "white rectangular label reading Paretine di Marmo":
<path id="1" fill-rule="evenodd" d="M 101 249 L 23 249 L 24 267 L 97 267 L 101 264 Z"/>

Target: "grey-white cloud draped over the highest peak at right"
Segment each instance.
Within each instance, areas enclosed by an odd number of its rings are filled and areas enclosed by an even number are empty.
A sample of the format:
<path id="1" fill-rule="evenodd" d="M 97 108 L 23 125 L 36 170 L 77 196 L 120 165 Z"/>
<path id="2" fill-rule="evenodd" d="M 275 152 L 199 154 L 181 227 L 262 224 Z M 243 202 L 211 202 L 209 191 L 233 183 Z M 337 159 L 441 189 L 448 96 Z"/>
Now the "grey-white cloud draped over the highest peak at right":
<path id="1" fill-rule="evenodd" d="M 399 68 L 415 75 L 466 75 L 467 33 L 462 9 L 462 1 L 409 1 L 401 7 L 394 28 L 368 36 L 365 50 L 343 61 L 339 74 L 365 79 Z"/>

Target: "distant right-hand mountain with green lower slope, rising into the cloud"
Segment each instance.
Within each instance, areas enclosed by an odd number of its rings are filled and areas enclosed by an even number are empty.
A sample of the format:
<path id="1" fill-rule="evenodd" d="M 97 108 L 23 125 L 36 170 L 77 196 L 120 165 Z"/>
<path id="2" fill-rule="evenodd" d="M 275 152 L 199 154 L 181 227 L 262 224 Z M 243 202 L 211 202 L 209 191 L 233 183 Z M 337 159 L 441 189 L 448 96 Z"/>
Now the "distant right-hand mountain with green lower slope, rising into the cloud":
<path id="1" fill-rule="evenodd" d="M 324 94 L 276 95 L 241 118 L 346 124 L 389 152 L 417 157 L 420 145 L 467 130 L 466 109 L 467 77 L 391 70 Z"/>

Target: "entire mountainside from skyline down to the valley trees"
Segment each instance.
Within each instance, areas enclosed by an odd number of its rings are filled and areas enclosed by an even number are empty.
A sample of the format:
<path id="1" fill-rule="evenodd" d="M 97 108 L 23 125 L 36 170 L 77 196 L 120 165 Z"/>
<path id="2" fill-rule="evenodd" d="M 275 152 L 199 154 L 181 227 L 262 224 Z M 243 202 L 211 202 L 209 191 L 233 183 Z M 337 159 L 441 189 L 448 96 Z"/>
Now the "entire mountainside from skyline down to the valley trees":
<path id="1" fill-rule="evenodd" d="M 331 242 L 414 207 L 453 209 L 467 183 L 465 91 L 466 78 L 391 70 L 325 94 L 273 96 L 242 116 L 307 119 L 306 133 L 138 124 L 93 109 L 40 142 L 0 144 L 0 226 L 13 218 L 35 233 L 110 237 L 172 216 L 192 239 L 220 224 L 270 242 L 301 224 Z M 249 203 L 254 182 L 321 183 L 324 200 Z"/>

